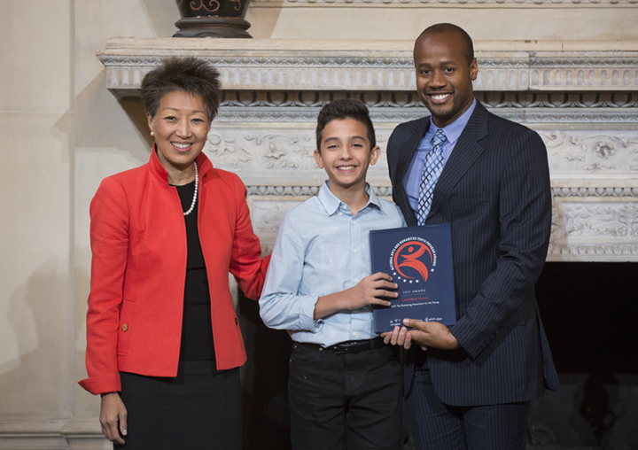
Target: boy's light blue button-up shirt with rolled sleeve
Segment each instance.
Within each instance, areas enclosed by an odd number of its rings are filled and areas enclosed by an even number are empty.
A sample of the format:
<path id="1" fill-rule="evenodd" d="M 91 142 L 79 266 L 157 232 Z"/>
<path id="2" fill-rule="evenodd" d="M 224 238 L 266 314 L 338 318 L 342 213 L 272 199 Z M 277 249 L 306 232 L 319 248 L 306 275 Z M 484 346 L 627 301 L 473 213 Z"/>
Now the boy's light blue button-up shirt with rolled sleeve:
<path id="1" fill-rule="evenodd" d="M 259 301 L 269 328 L 324 347 L 377 337 L 370 306 L 313 320 L 319 297 L 371 275 L 370 230 L 405 226 L 399 206 L 377 198 L 367 183 L 366 192 L 368 203 L 353 215 L 325 182 L 319 195 L 284 215 Z"/>

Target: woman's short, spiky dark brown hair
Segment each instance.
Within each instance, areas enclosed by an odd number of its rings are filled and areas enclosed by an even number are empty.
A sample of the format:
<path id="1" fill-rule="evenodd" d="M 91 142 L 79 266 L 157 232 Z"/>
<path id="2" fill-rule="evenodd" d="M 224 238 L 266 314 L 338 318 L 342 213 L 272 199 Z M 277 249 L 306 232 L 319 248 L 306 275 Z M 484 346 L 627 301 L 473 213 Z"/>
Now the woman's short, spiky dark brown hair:
<path id="1" fill-rule="evenodd" d="M 152 69 L 142 80 L 144 109 L 155 118 L 162 97 L 182 90 L 201 97 L 208 112 L 208 120 L 217 115 L 220 102 L 219 72 L 206 59 L 170 57 Z"/>

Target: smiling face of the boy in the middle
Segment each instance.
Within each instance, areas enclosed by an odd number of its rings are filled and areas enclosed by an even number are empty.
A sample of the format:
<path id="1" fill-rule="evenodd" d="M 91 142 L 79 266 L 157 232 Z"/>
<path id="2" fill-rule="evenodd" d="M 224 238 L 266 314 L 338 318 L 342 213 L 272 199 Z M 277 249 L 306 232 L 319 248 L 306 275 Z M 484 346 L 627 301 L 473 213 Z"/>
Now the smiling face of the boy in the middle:
<path id="1" fill-rule="evenodd" d="M 337 197 L 339 191 L 365 189 L 368 166 L 381 152 L 378 147 L 370 149 L 367 136 L 366 126 L 350 118 L 331 120 L 323 128 L 321 153 L 315 150 L 315 161 L 325 169 Z"/>

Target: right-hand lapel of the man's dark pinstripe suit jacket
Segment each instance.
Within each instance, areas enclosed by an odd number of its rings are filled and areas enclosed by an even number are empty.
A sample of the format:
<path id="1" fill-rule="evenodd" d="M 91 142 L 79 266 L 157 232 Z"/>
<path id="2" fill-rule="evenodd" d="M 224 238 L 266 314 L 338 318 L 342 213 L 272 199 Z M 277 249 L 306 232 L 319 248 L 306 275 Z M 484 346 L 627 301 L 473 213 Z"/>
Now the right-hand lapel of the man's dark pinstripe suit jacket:
<path id="1" fill-rule="evenodd" d="M 474 164 L 474 161 L 485 151 L 481 140 L 487 136 L 487 110 L 477 102 L 474 112 L 456 141 L 455 148 L 447 159 L 439 181 L 432 194 L 432 208 L 428 217 L 435 214 L 443 202 L 463 177 L 463 174 Z"/>

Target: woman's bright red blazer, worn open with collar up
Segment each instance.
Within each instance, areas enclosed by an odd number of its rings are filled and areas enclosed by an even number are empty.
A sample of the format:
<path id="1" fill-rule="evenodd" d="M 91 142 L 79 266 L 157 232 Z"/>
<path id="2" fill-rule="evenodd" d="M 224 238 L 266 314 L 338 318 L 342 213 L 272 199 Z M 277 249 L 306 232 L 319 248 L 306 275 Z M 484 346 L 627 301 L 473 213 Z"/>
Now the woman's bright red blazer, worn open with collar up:
<path id="1" fill-rule="evenodd" d="M 217 369 L 245 360 L 229 272 L 259 299 L 268 268 L 253 233 L 237 175 L 201 153 L 198 229 L 210 284 Z M 91 283 L 86 365 L 80 384 L 97 394 L 121 391 L 120 371 L 176 376 L 186 280 L 186 228 L 175 187 L 152 151 L 148 164 L 109 176 L 90 205 Z"/>

